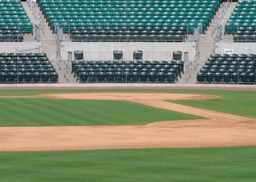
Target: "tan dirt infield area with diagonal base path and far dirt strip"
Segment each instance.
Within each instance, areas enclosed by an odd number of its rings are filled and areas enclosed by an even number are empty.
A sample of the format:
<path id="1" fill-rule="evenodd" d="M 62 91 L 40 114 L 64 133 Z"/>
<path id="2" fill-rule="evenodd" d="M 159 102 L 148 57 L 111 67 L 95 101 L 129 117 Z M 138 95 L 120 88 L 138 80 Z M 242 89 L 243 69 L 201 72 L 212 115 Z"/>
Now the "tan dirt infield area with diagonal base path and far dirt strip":
<path id="1" fill-rule="evenodd" d="M 256 145 L 256 121 L 164 100 L 208 99 L 214 95 L 74 93 L 34 98 L 128 100 L 208 119 L 156 122 L 142 126 L 0 127 L 0 151 L 145 149 Z"/>

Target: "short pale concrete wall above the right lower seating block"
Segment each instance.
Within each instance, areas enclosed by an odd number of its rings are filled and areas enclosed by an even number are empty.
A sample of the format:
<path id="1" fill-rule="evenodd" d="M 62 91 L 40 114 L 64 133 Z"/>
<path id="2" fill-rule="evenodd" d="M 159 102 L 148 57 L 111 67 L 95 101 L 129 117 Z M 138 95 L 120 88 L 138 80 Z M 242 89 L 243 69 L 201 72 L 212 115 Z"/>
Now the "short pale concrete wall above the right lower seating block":
<path id="1" fill-rule="evenodd" d="M 215 53 L 221 54 L 225 50 L 233 50 L 234 54 L 256 54 L 256 43 L 217 42 Z"/>

